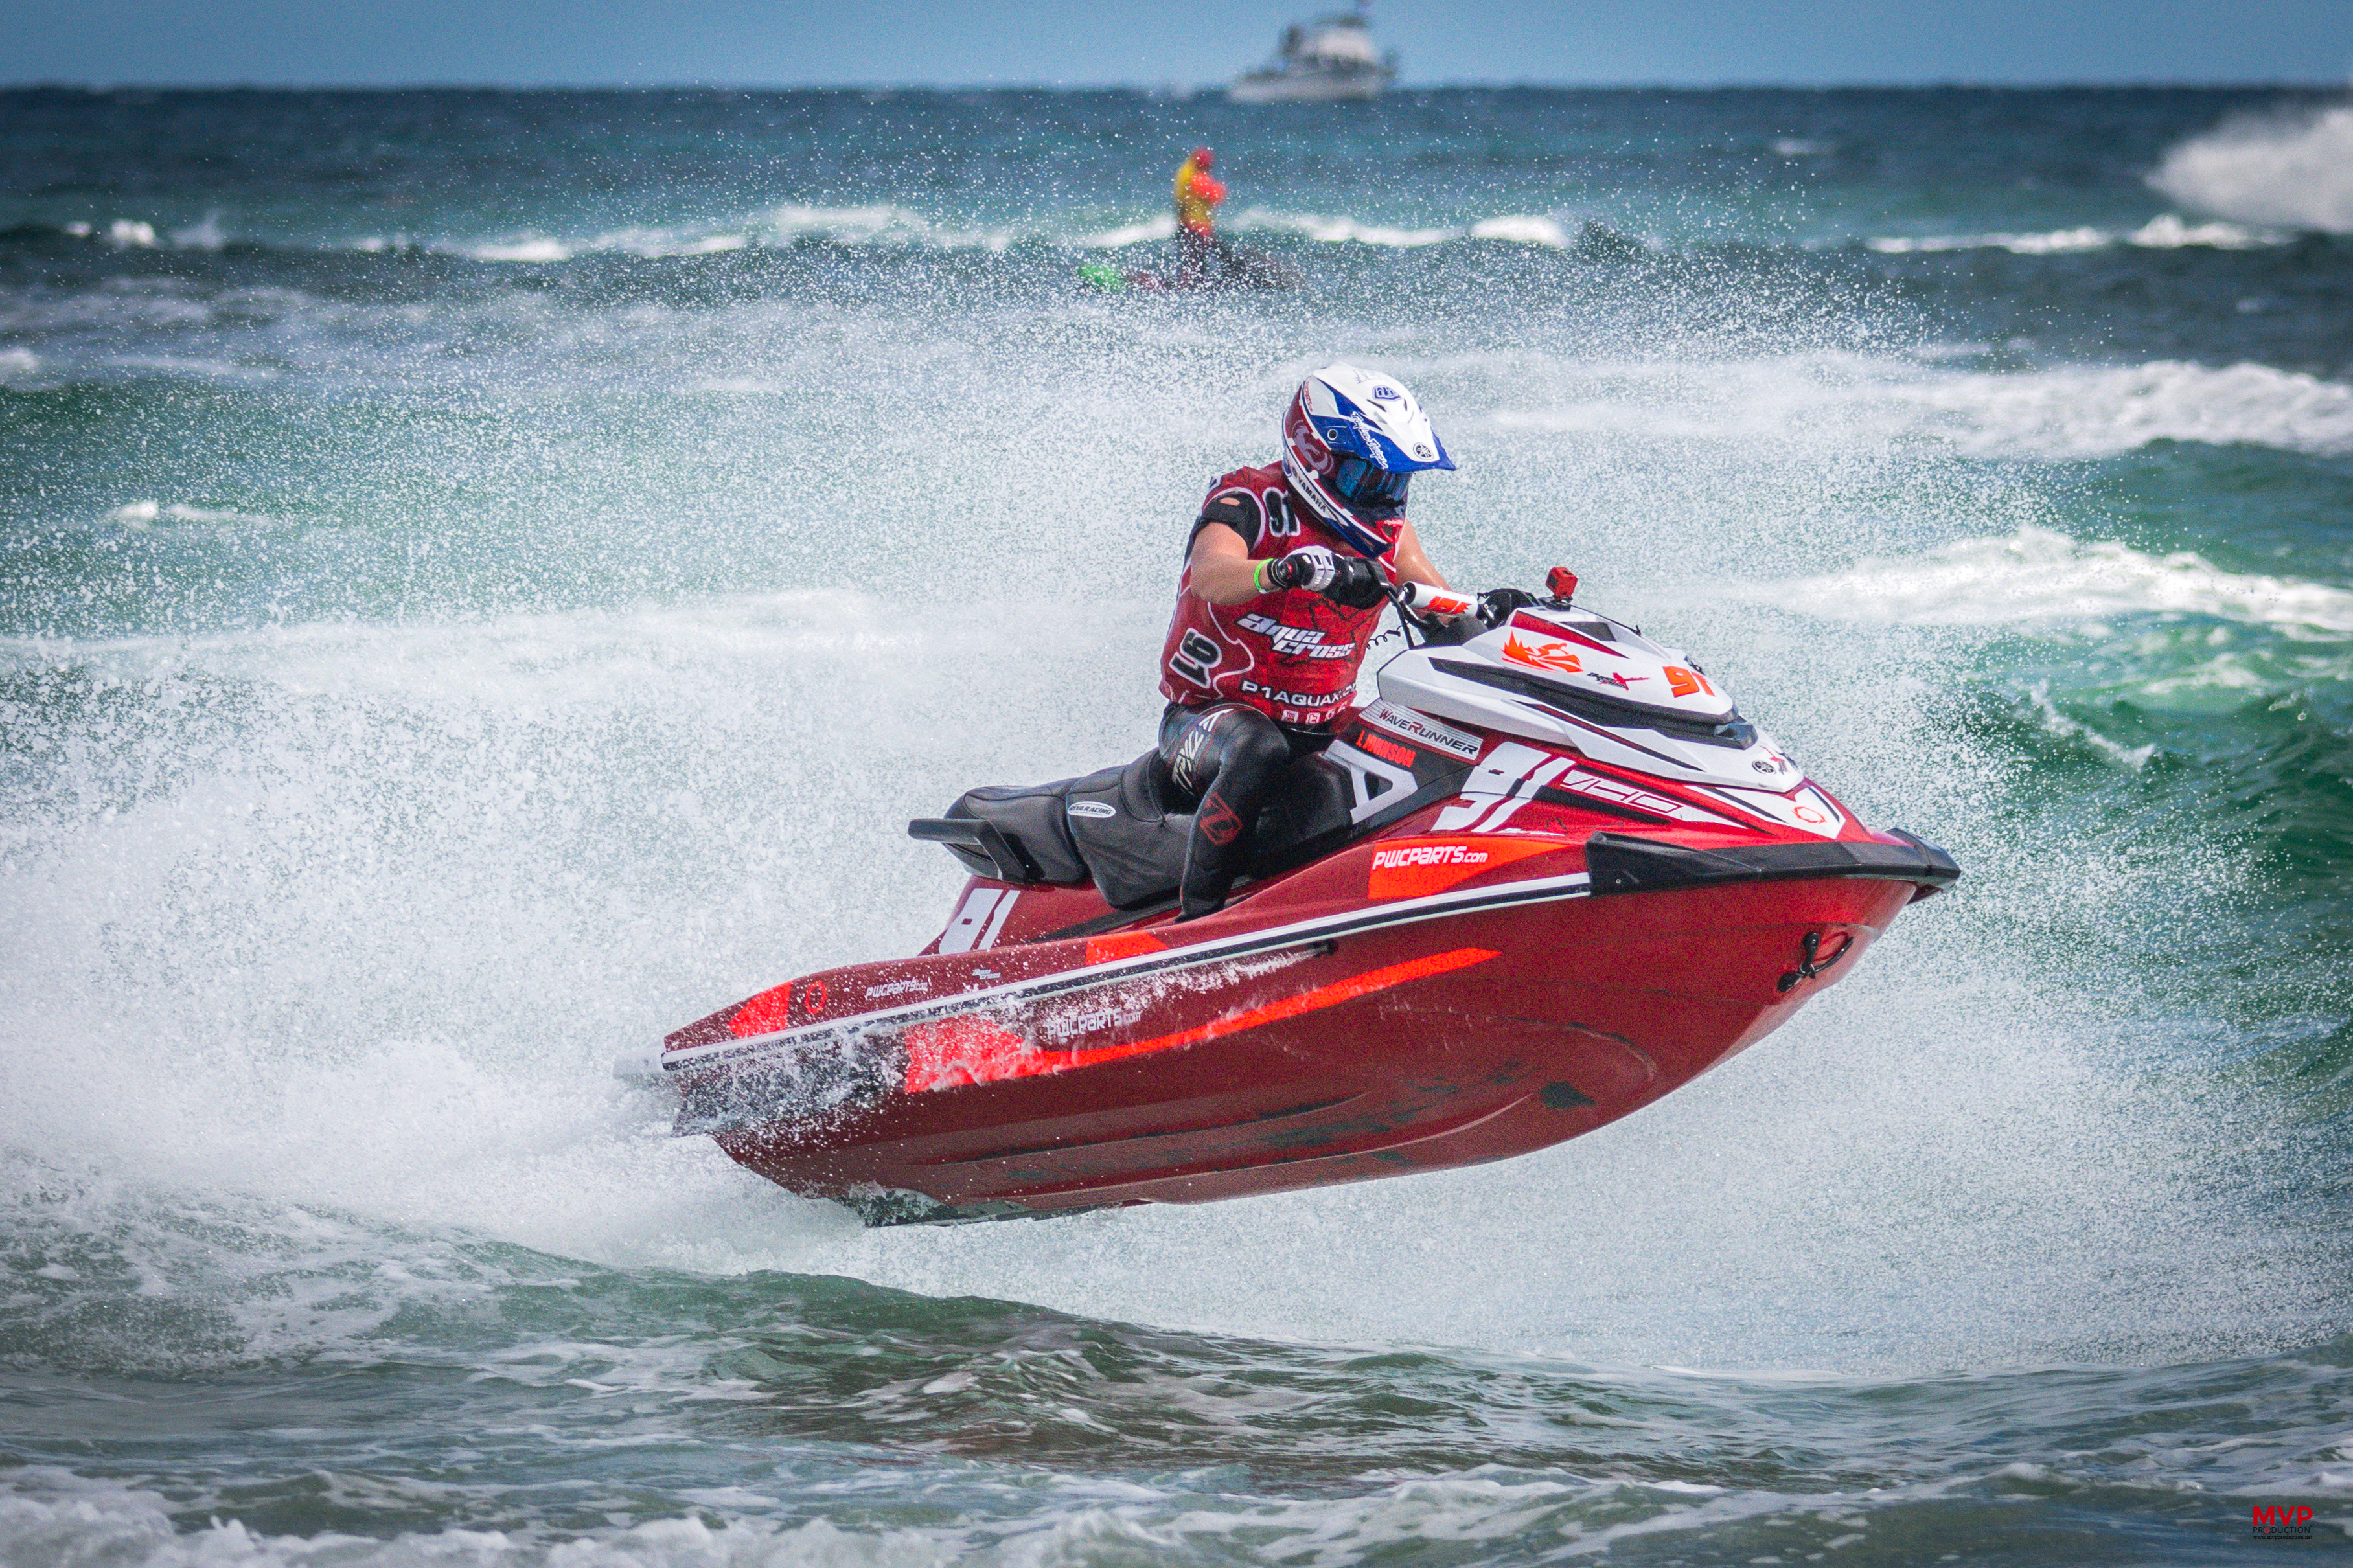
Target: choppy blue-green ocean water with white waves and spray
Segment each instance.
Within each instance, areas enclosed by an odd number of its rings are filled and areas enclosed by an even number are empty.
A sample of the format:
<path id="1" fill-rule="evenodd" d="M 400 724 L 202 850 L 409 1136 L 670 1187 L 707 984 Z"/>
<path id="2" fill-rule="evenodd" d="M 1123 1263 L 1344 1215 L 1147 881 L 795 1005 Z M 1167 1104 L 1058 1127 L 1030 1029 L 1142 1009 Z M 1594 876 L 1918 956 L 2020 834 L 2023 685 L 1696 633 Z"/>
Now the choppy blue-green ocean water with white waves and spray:
<path id="1" fill-rule="evenodd" d="M 1202 139 L 1306 287 L 1085 292 Z M 2344 1552 L 2344 101 L 16 92 L 0 181 L 0 1561 Z M 866 1232 L 671 1138 L 614 1056 L 1148 743 L 1344 355 L 1454 581 L 1962 886 L 1478 1171 Z"/>

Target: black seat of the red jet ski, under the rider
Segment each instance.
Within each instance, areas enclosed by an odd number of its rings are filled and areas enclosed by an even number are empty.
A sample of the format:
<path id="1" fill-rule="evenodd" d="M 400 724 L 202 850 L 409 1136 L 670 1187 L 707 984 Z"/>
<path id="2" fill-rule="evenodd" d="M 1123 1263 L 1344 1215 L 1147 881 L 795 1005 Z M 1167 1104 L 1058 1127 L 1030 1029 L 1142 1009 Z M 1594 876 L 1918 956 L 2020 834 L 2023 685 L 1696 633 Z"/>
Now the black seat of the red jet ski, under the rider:
<path id="1" fill-rule="evenodd" d="M 1085 778 L 965 790 L 946 816 L 918 818 L 908 837 L 946 844 L 979 877 L 1054 882 L 1094 891 L 1115 910 L 1176 891 L 1193 806 L 1158 750 Z M 1348 780 L 1322 762 L 1294 762 L 1259 811 L 1252 875 L 1268 875 L 1346 837 Z"/>

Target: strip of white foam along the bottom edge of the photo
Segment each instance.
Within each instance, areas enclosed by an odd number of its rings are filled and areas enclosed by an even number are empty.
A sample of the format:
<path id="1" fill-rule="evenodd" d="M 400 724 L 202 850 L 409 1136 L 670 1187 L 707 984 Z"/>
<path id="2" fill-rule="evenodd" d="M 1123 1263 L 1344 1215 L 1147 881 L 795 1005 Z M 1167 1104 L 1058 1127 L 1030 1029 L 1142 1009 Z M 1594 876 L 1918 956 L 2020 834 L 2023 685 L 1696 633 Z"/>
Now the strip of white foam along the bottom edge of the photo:
<path id="1" fill-rule="evenodd" d="M 602 1347 L 600 1347 L 602 1349 Z M 1056 1415 L 1082 1420 L 1075 1406 Z M 609 1443 L 680 1443 L 659 1436 L 572 1439 L 541 1427 L 541 1443 L 593 1450 Z M 908 1460 L 920 1465 L 920 1460 Z M 847 1502 L 835 1523 L 816 1486 L 816 1502 L 779 1502 L 767 1488 L 694 1488 L 699 1507 L 675 1519 L 612 1523 L 593 1530 L 407 1530 L 369 1540 L 341 1530 L 273 1535 L 254 1530 L 233 1507 L 200 1530 L 174 1528 L 174 1500 L 141 1486 L 75 1476 L 61 1467 L 12 1472 L 0 1490 L 0 1556 L 12 1563 L 106 1563 L 120 1568 L 1040 1568 L 1059 1563 L 1151 1561 L 1289 1561 L 1341 1563 L 1428 1556 L 1433 1542 L 1449 1556 L 1508 1554 L 1527 1540 L 1553 1540 L 1555 1556 L 1598 1556 L 1614 1542 L 1654 1530 L 1708 1530 L 1725 1523 L 1777 1521 L 1812 1526 L 1788 1530 L 1788 1542 L 1812 1544 L 1828 1530 L 1817 1519 L 1854 1516 L 1854 1500 L 1786 1497 L 1767 1490 L 1697 1495 L 1673 1483 L 1586 1479 L 1567 1472 L 1537 1476 L 1414 1474 L 1379 1486 L 1264 1490 L 1217 1476 L 1200 1486 L 1181 1476 L 1127 1479 L 1056 1474 L 1028 1467 L 1019 1500 L 998 1495 L 1005 1481 L 972 1476 L 969 1460 L 939 1469 L 901 1469 L 901 1486 L 929 1495 L 960 1495 L 958 1505 L 922 1509 L 915 1521 L 892 1509 Z M 431 1495 L 416 1479 L 400 1483 L 402 1500 Z M 946 1488 L 955 1488 L 948 1493 Z M 1038 1488 L 1045 1488 L 1042 1493 Z M 1897 1488 L 1875 1502 L 1897 1502 Z M 176 1502 L 179 1512 L 188 1505 Z M 814 1519 L 809 1514 L 816 1514 Z M 1609 1523 L 1588 1523 L 1598 1512 Z M 711 1519 L 718 1514 L 718 1521 Z M 1781 1519 L 1774 1519 L 1781 1516 Z M 1838 1526 L 1831 1526 L 1838 1528 Z"/>

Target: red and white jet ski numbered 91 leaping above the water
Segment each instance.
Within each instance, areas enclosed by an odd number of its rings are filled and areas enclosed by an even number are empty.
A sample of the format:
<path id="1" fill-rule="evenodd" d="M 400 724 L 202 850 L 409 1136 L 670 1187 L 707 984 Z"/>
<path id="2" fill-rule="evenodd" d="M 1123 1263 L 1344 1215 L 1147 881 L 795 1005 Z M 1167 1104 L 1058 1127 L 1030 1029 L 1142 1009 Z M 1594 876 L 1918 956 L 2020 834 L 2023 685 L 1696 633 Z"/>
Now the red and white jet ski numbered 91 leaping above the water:
<path id="1" fill-rule="evenodd" d="M 1421 616 L 1466 599 L 1398 590 L 1414 646 L 1285 773 L 1219 914 L 1174 919 L 1191 802 L 1158 755 L 972 790 L 908 825 L 972 870 L 920 954 L 800 976 L 624 1072 L 868 1225 L 1442 1171 L 1649 1105 L 1960 867 L 1574 583 L 1454 644 Z"/>

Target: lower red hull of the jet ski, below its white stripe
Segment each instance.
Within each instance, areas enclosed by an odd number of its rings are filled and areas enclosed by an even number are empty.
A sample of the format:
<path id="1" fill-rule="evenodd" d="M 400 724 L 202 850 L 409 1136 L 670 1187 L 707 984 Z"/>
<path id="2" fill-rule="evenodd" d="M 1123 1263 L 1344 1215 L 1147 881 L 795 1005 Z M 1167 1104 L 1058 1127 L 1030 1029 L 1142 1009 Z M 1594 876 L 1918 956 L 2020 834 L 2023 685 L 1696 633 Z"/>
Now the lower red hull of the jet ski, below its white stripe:
<path id="1" fill-rule="evenodd" d="M 1918 891 L 1824 877 L 1584 893 L 1308 933 L 974 1013 L 962 1032 L 913 1025 L 913 1041 L 864 1046 L 899 1072 L 882 1093 L 713 1131 L 760 1175 L 878 1222 L 1205 1204 L 1511 1159 L 1755 1044 Z M 1200 922 L 1214 924 L 1231 922 Z M 1838 957 L 1784 985 L 1807 938 L 1817 964 Z M 1056 1039 L 1078 1048 L 1038 1048 Z"/>

